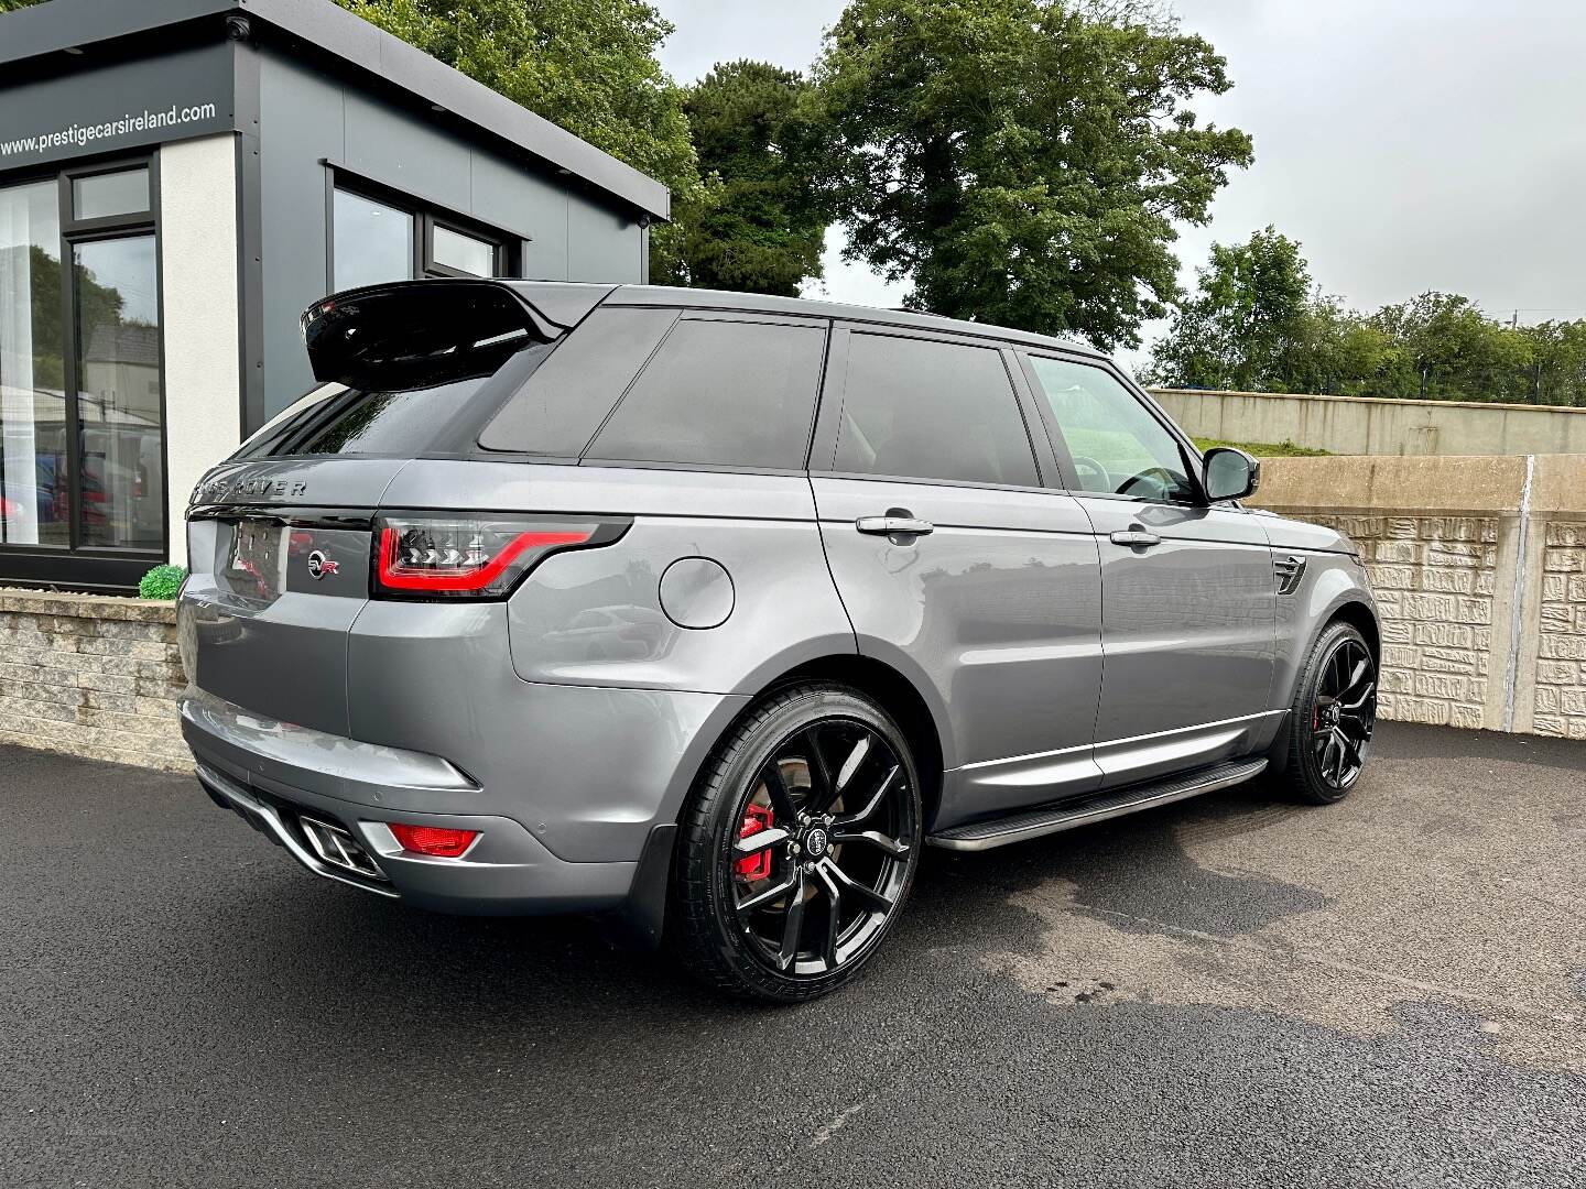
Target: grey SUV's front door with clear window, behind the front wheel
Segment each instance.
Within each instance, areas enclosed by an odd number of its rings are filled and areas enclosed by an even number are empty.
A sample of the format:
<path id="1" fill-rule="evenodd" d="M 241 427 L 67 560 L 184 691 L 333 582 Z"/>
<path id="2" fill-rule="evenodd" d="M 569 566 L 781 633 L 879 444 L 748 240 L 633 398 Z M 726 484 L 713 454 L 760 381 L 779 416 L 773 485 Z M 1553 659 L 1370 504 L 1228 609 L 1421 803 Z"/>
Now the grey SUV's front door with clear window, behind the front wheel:
<path id="1" fill-rule="evenodd" d="M 1104 786 L 1250 750 L 1277 647 L 1261 517 L 1207 504 L 1190 447 L 1110 368 L 1020 354 L 1101 553 Z"/>

